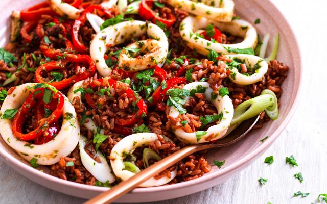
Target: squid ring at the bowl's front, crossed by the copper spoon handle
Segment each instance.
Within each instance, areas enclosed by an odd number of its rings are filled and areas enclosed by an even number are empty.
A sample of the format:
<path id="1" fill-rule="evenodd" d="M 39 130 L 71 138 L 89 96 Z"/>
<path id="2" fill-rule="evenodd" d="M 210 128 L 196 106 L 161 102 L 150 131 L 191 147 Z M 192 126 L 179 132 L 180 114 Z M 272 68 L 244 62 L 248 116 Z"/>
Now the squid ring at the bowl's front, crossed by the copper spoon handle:
<path id="1" fill-rule="evenodd" d="M 158 139 L 157 134 L 155 133 L 136 133 L 129 135 L 119 141 L 111 150 L 110 162 L 114 174 L 121 178 L 123 181 L 129 179 L 135 173 L 124 170 L 123 160 L 125 159 L 125 154 L 131 154 L 137 147 L 147 146 L 150 142 Z M 177 168 L 171 172 L 171 177 L 162 177 L 156 180 L 154 177 L 151 177 L 147 181 L 143 182 L 140 187 L 151 187 L 151 186 L 161 186 L 172 181 L 177 175 Z"/>

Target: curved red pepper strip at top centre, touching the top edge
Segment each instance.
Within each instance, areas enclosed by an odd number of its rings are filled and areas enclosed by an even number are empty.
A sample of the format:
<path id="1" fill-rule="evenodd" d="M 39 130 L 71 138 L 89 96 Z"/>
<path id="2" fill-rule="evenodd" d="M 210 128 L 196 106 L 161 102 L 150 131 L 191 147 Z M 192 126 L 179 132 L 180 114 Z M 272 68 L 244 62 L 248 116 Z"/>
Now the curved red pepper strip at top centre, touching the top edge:
<path id="1" fill-rule="evenodd" d="M 139 4 L 139 16 L 141 16 L 145 20 L 152 20 L 153 23 L 156 23 L 156 20 L 162 22 L 166 24 L 167 28 L 171 27 L 176 21 L 175 15 L 172 13 L 167 13 L 167 18 L 159 17 L 157 13 L 151 9 L 153 7 L 153 2 L 154 0 L 142 0 Z"/>

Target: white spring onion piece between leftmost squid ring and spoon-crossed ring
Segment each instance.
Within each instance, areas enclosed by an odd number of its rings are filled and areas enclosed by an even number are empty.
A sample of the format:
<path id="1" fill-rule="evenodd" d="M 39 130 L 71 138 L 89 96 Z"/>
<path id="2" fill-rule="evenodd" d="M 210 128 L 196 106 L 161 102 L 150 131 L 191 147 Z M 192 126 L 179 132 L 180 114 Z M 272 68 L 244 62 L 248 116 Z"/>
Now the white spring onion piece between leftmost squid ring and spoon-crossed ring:
<path id="1" fill-rule="evenodd" d="M 101 154 L 100 151 L 94 152 L 95 158 L 98 157 L 100 162 L 97 162 L 91 158 L 84 149 L 87 142 L 88 140 L 86 137 L 81 135 L 78 146 L 80 149 L 81 161 L 84 167 L 100 182 L 114 182 L 115 176 L 113 175 L 106 158 Z"/>

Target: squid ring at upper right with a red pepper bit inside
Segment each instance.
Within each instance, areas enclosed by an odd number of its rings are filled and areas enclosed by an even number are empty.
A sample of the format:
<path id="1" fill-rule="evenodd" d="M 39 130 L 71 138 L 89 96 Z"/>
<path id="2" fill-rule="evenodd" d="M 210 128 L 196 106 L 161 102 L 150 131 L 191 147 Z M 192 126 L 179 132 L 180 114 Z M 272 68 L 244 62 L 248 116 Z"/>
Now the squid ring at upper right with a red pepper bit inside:
<path id="1" fill-rule="evenodd" d="M 222 32 L 228 32 L 231 35 L 244 38 L 244 40 L 236 44 L 221 44 L 200 38 L 195 34 L 199 29 L 203 29 L 209 24 L 217 27 Z M 245 20 L 233 20 L 228 23 L 220 23 L 200 16 L 189 16 L 181 22 L 179 32 L 188 46 L 192 49 L 196 49 L 198 53 L 202 55 L 207 55 L 211 49 L 217 53 L 229 54 L 228 50 L 226 50 L 227 47 L 240 49 L 249 47 L 255 48 L 258 42 L 255 28 L 251 23 Z"/>

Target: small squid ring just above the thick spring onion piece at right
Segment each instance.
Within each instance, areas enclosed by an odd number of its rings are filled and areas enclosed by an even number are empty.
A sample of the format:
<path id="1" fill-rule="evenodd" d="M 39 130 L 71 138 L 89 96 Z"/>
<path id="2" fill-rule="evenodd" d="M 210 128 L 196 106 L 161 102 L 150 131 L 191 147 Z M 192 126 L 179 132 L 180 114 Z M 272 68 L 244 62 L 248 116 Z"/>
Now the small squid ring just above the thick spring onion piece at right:
<path id="1" fill-rule="evenodd" d="M 249 76 L 241 74 L 237 68 L 232 68 L 230 70 L 229 79 L 236 84 L 249 85 L 249 84 L 254 84 L 255 82 L 260 82 L 268 70 L 267 62 L 258 56 L 247 55 L 247 54 L 236 54 L 236 55 L 226 55 L 226 56 L 231 59 L 237 58 L 240 60 L 244 60 L 246 66 L 251 68 L 260 67 L 255 71 L 255 73 Z"/>

